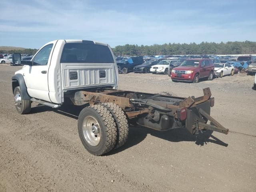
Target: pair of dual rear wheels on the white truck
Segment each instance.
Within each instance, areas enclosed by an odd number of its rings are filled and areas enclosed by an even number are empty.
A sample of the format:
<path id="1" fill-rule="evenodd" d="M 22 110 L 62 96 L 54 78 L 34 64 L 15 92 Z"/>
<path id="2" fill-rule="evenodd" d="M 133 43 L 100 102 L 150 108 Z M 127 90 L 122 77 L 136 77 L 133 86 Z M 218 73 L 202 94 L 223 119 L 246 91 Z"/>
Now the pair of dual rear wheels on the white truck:
<path id="1" fill-rule="evenodd" d="M 128 132 L 126 115 L 114 103 L 88 106 L 79 114 L 79 137 L 86 150 L 96 156 L 124 145 Z"/>

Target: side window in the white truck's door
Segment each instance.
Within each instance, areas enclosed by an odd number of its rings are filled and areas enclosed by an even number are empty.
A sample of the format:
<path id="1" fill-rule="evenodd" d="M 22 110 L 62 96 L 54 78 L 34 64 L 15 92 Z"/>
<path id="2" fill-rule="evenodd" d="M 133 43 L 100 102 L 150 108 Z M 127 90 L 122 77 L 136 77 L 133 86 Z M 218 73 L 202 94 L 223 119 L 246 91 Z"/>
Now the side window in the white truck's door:
<path id="1" fill-rule="evenodd" d="M 53 44 L 46 45 L 35 56 L 33 65 L 47 65 Z"/>

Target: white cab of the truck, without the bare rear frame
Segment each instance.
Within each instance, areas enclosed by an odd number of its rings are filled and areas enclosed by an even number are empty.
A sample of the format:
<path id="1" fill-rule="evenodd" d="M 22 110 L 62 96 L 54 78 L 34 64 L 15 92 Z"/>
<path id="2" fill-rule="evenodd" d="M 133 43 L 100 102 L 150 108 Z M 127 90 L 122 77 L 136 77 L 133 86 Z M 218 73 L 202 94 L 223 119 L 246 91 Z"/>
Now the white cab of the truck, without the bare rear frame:
<path id="1" fill-rule="evenodd" d="M 118 69 L 108 44 L 86 40 L 46 43 L 13 77 L 24 78 L 28 96 L 62 104 L 64 92 L 118 87 Z"/>

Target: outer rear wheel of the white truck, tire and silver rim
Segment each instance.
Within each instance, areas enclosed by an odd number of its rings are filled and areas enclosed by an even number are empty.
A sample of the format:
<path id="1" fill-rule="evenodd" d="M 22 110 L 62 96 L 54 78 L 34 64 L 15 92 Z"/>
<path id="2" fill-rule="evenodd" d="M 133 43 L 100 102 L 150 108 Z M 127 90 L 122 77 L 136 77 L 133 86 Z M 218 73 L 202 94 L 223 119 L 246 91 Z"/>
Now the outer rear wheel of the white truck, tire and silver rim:
<path id="1" fill-rule="evenodd" d="M 96 156 L 103 155 L 116 145 L 114 117 L 102 105 L 88 106 L 78 116 L 78 134 L 88 152 Z"/>

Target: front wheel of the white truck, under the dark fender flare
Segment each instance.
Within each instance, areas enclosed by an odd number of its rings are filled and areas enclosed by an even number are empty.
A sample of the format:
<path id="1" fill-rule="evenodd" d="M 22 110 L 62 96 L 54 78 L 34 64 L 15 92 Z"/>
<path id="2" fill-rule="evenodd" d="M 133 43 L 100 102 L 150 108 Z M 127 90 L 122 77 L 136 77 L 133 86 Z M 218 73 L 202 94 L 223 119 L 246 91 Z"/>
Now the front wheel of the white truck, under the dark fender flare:
<path id="1" fill-rule="evenodd" d="M 27 114 L 31 110 L 31 101 L 22 99 L 20 87 L 14 88 L 14 104 L 19 114 Z"/>

